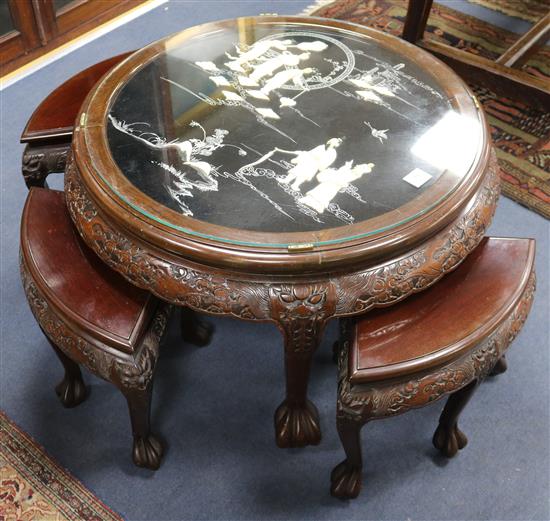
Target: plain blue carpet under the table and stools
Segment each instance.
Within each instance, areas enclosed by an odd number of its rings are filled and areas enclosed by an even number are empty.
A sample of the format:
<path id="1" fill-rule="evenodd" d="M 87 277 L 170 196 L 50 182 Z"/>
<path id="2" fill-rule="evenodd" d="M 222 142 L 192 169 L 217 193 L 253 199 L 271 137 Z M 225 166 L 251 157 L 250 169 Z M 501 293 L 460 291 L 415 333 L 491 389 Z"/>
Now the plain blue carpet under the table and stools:
<path id="1" fill-rule="evenodd" d="M 197 23 L 260 12 L 297 13 L 308 2 L 171 2 L 73 52 L 0 94 L 0 407 L 128 520 L 548 520 L 550 518 L 549 223 L 501 199 L 493 235 L 537 239 L 538 293 L 510 351 L 509 370 L 484 383 L 461 428 L 470 443 L 452 461 L 431 436 L 442 403 L 363 430 L 365 488 L 354 502 L 328 493 L 342 457 L 335 427 L 331 325 L 318 352 L 311 396 L 324 438 L 318 447 L 275 447 L 272 417 L 283 396 L 281 338 L 269 324 L 212 319 L 213 344 L 182 345 L 172 328 L 159 362 L 153 422 L 167 443 L 161 469 L 134 467 L 122 396 L 85 375 L 91 396 L 63 409 L 62 371 L 19 281 L 19 219 L 26 197 L 20 132 L 58 84 L 103 58 Z"/>

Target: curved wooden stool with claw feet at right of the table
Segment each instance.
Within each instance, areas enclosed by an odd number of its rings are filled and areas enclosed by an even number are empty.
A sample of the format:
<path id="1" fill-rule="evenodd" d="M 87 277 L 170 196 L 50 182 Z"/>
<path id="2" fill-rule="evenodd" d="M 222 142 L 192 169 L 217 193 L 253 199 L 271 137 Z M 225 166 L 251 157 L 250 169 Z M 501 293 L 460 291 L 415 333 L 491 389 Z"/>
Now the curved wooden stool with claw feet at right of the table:
<path id="1" fill-rule="evenodd" d="M 485 238 L 432 288 L 360 320 L 341 322 L 337 427 L 346 460 L 331 494 L 361 489 L 361 427 L 444 395 L 433 444 L 454 456 L 467 443 L 458 417 L 521 329 L 535 289 L 535 241 Z"/>

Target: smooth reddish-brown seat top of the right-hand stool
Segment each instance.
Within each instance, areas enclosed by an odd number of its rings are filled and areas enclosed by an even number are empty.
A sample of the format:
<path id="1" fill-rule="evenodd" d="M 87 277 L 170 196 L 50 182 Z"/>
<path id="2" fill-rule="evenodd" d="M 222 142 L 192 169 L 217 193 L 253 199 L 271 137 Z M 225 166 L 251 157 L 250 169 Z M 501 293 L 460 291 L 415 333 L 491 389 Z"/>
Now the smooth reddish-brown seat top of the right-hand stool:
<path id="1" fill-rule="evenodd" d="M 358 320 L 350 381 L 405 376 L 469 350 L 514 303 L 530 254 L 524 242 L 484 239 L 430 290 Z"/>

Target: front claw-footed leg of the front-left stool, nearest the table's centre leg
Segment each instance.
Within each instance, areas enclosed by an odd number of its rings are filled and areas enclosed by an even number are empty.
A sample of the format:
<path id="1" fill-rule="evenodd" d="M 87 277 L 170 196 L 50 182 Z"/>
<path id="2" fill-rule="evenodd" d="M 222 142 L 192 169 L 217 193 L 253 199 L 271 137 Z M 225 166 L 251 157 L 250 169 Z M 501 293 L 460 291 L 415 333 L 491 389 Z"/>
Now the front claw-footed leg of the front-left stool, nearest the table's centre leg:
<path id="1" fill-rule="evenodd" d="M 130 421 L 132 422 L 132 433 L 134 435 L 134 446 L 132 458 L 138 467 L 145 467 L 157 470 L 160 467 L 163 448 L 157 438 L 151 434 L 150 411 L 151 395 L 153 385 L 149 383 L 144 389 L 124 388 Z"/>

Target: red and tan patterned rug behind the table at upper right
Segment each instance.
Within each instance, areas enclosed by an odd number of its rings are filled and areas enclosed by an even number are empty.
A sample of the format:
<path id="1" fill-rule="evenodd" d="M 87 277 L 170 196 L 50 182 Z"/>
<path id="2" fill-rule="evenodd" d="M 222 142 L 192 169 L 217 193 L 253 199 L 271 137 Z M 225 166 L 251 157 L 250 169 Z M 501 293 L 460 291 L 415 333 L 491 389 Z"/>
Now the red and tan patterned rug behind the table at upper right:
<path id="1" fill-rule="evenodd" d="M 483 1 L 487 5 L 518 3 Z M 402 33 L 407 12 L 406 0 L 321 0 L 319 4 L 307 14 L 349 20 L 396 36 Z M 425 38 L 495 59 L 518 35 L 434 3 Z M 542 48 L 524 70 L 550 79 L 550 47 Z M 550 112 L 497 96 L 478 85 L 470 87 L 483 104 L 491 125 L 503 193 L 550 218 Z"/>

